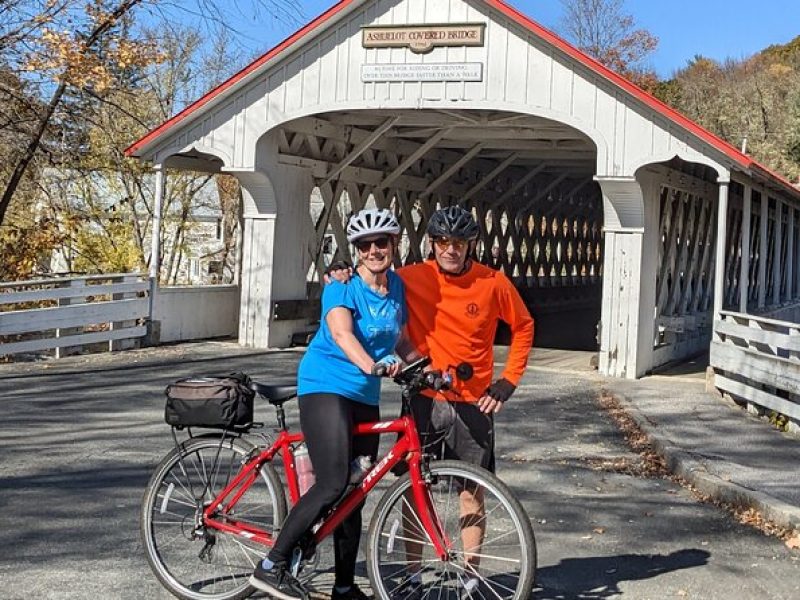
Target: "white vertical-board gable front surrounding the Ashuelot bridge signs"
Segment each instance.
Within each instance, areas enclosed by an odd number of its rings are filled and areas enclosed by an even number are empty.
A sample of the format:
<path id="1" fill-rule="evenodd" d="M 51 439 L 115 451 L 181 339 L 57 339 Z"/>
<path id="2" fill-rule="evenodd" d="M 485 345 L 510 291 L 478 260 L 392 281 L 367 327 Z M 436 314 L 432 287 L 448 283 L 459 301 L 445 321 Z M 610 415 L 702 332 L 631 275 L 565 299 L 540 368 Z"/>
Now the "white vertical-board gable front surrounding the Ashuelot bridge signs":
<path id="1" fill-rule="evenodd" d="M 425 57 L 405 48 L 361 46 L 363 25 L 405 25 L 419 22 L 423 13 L 427 22 L 447 21 L 459 15 L 463 16 L 459 20 L 487 22 L 485 46 L 434 48 Z M 484 63 L 484 80 L 380 84 L 361 81 L 361 64 L 452 60 Z M 259 95 L 257 90 L 263 93 Z M 318 31 L 301 51 L 279 57 L 268 70 L 229 94 L 232 101 L 209 109 L 209 118 L 189 118 L 173 127 L 152 148 L 154 161 L 160 162 L 159 155 L 188 150 L 202 140 L 202 145 L 231 157 L 232 164 L 226 167 L 251 168 L 257 162 L 257 139 L 282 122 L 324 113 L 336 105 L 358 108 L 396 102 L 412 107 L 416 98 L 430 103 L 457 98 L 462 103 L 486 103 L 483 108 L 487 109 L 500 109 L 501 105 L 509 110 L 528 107 L 547 118 L 594 128 L 596 139 L 607 141 L 599 149 L 598 173 L 602 175 L 633 172 L 642 156 L 666 157 L 677 152 L 700 159 L 707 151 L 705 142 L 687 138 L 652 108 L 643 112 L 639 101 L 508 16 L 484 8 L 478 10 L 464 0 L 427 2 L 422 10 L 416 0 L 401 0 L 392 6 L 366 3 L 330 29 Z M 226 133 L 228 128 L 235 133 Z M 218 130 L 216 134 L 212 129 Z"/>

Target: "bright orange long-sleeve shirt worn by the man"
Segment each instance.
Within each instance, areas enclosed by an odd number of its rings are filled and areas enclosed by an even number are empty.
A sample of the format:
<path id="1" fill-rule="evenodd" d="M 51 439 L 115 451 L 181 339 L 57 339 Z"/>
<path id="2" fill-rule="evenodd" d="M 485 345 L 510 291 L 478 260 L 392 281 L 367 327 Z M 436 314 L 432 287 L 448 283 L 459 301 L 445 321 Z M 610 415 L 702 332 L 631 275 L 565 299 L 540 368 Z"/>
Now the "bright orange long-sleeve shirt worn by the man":
<path id="1" fill-rule="evenodd" d="M 519 292 L 503 273 L 473 263 L 463 275 L 443 273 L 434 260 L 397 271 L 406 286 L 408 331 L 432 367 L 453 371 L 472 365 L 471 379 L 456 379 L 439 399 L 475 402 L 492 383 L 492 350 L 498 320 L 511 327 L 511 347 L 501 377 L 519 384 L 533 344 L 533 319 Z"/>

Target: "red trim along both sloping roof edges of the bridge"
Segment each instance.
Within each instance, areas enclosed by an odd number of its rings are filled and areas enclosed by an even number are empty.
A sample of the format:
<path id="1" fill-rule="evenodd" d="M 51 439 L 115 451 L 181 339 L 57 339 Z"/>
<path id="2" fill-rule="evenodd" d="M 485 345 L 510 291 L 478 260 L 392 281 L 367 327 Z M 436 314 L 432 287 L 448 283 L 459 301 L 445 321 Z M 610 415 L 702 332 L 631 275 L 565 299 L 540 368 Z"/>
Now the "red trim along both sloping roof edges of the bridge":
<path id="1" fill-rule="evenodd" d="M 338 4 L 332 6 L 326 12 L 321 14 L 319 17 L 311 21 L 305 27 L 299 29 L 297 32 L 286 38 L 283 42 L 275 46 L 272 50 L 268 51 L 264 54 L 261 58 L 255 60 L 253 63 L 242 69 L 240 72 L 233 75 L 227 81 L 221 83 L 216 88 L 212 89 L 208 93 L 206 93 L 202 98 L 194 102 L 193 104 L 186 107 L 183 111 L 165 121 L 159 127 L 148 133 L 146 136 L 141 138 L 139 141 L 133 143 L 130 147 L 125 150 L 126 156 L 133 156 L 141 150 L 144 146 L 155 140 L 161 134 L 165 133 L 167 130 L 171 129 L 184 119 L 186 119 L 189 115 L 199 110 L 201 107 L 205 106 L 209 102 L 211 102 L 214 98 L 219 96 L 228 88 L 234 86 L 236 83 L 247 77 L 250 73 L 257 70 L 263 64 L 269 62 L 281 52 L 286 50 L 292 44 L 297 42 L 299 39 L 311 33 L 331 18 L 339 14 L 341 11 L 346 9 L 350 6 L 353 2 L 358 0 L 341 0 Z M 510 18 L 515 23 L 523 26 L 525 29 L 531 31 L 535 35 L 542 38 L 547 43 L 555 46 L 566 55 L 574 58 L 578 62 L 584 64 L 585 66 L 589 67 L 592 71 L 597 73 L 598 75 L 608 79 L 610 82 L 614 83 L 615 85 L 621 87 L 627 93 L 631 94 L 638 100 L 644 102 L 650 108 L 656 110 L 657 112 L 661 113 L 667 119 L 673 121 L 677 125 L 683 127 L 693 135 L 697 136 L 701 140 L 707 142 L 720 152 L 722 152 L 725 156 L 732 159 L 736 163 L 738 163 L 741 167 L 745 169 L 751 169 L 755 167 L 757 170 L 760 170 L 762 173 L 766 174 L 767 176 L 776 179 L 782 185 L 788 187 L 794 193 L 798 192 L 798 189 L 794 187 L 794 185 L 787 180 L 786 178 L 778 175 L 777 173 L 773 172 L 769 168 L 757 163 L 752 158 L 743 154 L 739 151 L 738 148 L 732 146 L 722 138 L 714 135 L 707 129 L 701 127 L 688 117 L 682 115 L 674 108 L 671 108 L 661 102 L 655 96 L 648 94 L 640 87 L 634 85 L 618 73 L 612 71 L 605 65 L 599 63 L 597 60 L 592 58 L 591 56 L 584 54 L 549 29 L 539 25 L 537 22 L 532 20 L 530 17 L 524 15 L 523 13 L 519 12 L 517 9 L 513 8 L 512 6 L 508 5 L 504 0 L 483 0 L 486 4 L 494 8 L 495 10 L 499 11 L 500 13 L 504 14 L 506 17 Z"/>

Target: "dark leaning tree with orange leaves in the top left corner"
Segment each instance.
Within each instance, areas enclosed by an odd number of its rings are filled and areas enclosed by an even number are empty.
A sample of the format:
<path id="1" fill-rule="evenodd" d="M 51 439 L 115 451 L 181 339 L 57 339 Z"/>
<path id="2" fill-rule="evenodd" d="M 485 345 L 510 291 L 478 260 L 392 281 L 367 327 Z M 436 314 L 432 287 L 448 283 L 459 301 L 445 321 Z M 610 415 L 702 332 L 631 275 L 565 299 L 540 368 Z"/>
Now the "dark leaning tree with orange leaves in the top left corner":
<path id="1" fill-rule="evenodd" d="M 251 0 L 250 4 L 282 18 L 300 14 L 294 0 Z M 58 110 L 69 93 L 88 93 L 102 100 L 120 73 L 162 60 L 158 45 L 135 27 L 136 19 L 145 11 L 166 15 L 176 6 L 207 15 L 215 26 L 230 28 L 226 13 L 211 0 L 182 5 L 163 0 L 0 2 L 0 68 L 33 88 L 35 99 L 30 102 L 29 130 L 20 138 L 21 147 L 4 157 L 9 168 L 0 183 L 0 224 L 29 168 L 43 148 L 47 151 L 48 130 L 58 120 Z M 62 120 L 62 124 L 70 122 Z"/>

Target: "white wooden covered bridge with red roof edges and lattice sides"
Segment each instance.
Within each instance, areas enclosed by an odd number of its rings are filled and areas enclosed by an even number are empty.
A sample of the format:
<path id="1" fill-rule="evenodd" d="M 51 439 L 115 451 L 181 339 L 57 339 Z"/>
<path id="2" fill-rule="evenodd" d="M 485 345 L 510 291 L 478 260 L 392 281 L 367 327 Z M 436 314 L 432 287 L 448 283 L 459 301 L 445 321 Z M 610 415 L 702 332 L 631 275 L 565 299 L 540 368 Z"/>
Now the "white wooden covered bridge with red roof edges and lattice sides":
<path id="1" fill-rule="evenodd" d="M 325 251 L 349 254 L 365 205 L 396 212 L 403 262 L 433 210 L 473 210 L 478 259 L 513 279 L 539 342 L 599 332 L 608 375 L 800 293 L 797 189 L 501 0 L 342 0 L 128 154 L 155 166 L 158 206 L 170 169 L 241 183 L 248 346 L 307 327 L 280 308 Z"/>

